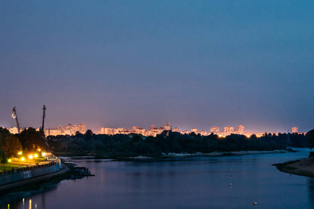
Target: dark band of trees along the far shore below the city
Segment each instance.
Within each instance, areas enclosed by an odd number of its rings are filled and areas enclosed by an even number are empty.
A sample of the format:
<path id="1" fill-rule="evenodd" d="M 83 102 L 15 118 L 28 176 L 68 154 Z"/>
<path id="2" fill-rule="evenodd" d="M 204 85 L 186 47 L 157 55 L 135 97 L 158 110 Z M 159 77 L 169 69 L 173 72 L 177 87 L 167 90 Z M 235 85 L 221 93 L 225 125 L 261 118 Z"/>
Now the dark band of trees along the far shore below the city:
<path id="1" fill-rule="evenodd" d="M 212 153 L 240 150 L 276 150 L 287 146 L 306 146 L 307 136 L 303 134 L 271 135 L 257 138 L 231 134 L 220 138 L 216 134 L 202 137 L 200 134 L 180 134 L 164 131 L 156 137 L 140 134 L 75 134 L 74 136 L 48 137 L 48 144 L 57 152 L 96 153 L 98 157 L 160 157 L 163 153 Z"/>

